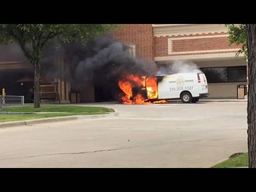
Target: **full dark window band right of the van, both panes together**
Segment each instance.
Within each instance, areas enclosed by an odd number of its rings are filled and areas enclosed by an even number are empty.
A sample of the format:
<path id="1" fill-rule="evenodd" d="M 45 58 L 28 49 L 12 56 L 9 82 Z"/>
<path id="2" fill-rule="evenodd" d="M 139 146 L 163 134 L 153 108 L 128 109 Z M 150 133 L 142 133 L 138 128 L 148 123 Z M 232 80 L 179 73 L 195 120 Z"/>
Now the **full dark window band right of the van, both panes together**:
<path id="1" fill-rule="evenodd" d="M 208 83 L 246 82 L 246 66 L 201 68 Z"/>

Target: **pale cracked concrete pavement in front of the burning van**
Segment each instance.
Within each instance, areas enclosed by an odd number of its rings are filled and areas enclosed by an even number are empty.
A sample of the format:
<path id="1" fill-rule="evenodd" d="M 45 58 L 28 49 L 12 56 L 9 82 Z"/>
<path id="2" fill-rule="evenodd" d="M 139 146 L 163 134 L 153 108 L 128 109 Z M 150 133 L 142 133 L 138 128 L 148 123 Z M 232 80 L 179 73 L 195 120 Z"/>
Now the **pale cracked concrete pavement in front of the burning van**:
<path id="1" fill-rule="evenodd" d="M 247 151 L 247 102 L 80 105 L 119 116 L 0 129 L 0 167 L 196 168 Z"/>

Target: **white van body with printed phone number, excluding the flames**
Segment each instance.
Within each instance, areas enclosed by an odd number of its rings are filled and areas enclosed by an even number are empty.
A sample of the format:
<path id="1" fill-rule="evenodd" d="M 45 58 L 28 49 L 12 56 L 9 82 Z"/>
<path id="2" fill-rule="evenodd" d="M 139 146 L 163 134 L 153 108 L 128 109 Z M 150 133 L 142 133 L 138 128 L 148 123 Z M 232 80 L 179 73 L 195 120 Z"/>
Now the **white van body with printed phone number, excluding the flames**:
<path id="1" fill-rule="evenodd" d="M 157 88 L 158 100 L 181 99 L 183 103 L 196 103 L 199 98 L 208 96 L 204 73 L 160 75 L 157 76 Z"/>

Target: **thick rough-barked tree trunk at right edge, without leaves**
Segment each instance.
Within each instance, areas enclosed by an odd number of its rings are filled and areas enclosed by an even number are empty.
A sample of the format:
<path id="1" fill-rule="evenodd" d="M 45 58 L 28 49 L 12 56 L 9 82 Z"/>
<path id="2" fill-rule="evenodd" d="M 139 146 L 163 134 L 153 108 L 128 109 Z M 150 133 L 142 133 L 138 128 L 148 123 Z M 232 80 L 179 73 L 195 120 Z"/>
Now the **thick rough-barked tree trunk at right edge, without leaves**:
<path id="1" fill-rule="evenodd" d="M 249 168 L 256 168 L 256 24 L 247 24 L 248 38 L 248 154 Z"/>

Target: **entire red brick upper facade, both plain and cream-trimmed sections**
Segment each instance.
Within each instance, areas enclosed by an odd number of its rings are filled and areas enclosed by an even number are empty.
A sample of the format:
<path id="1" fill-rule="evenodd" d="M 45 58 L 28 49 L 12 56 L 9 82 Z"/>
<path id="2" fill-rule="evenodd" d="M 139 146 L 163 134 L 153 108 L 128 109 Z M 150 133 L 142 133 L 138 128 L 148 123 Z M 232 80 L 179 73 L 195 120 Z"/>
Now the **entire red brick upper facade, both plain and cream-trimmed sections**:
<path id="1" fill-rule="evenodd" d="M 125 24 L 123 28 L 112 32 L 111 36 L 122 42 L 132 43 L 136 45 L 136 56 L 138 58 L 151 58 L 161 56 L 182 56 L 182 55 L 197 55 L 197 54 L 215 54 L 215 53 L 230 53 L 225 52 L 205 52 L 205 53 L 186 53 L 186 54 L 168 54 L 168 38 L 180 37 L 197 37 L 197 36 L 215 36 L 228 34 L 221 33 L 206 33 L 206 34 L 187 34 L 178 36 L 160 36 L 154 37 L 152 24 Z M 172 41 L 173 52 L 185 51 L 202 51 L 202 50 L 219 50 L 219 49 L 236 49 L 242 46 L 236 44 L 229 45 L 228 37 L 213 37 L 200 39 L 185 39 Z"/>

